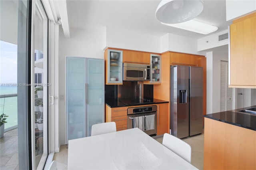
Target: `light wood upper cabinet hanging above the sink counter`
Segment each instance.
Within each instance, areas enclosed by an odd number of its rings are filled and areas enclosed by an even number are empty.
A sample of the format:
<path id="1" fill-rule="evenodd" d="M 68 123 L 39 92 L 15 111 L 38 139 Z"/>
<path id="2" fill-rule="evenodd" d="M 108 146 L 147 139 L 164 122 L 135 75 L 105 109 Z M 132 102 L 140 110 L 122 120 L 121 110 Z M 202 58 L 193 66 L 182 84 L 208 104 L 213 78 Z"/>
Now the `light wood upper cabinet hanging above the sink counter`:
<path id="1" fill-rule="evenodd" d="M 230 85 L 256 88 L 256 12 L 230 25 Z"/>

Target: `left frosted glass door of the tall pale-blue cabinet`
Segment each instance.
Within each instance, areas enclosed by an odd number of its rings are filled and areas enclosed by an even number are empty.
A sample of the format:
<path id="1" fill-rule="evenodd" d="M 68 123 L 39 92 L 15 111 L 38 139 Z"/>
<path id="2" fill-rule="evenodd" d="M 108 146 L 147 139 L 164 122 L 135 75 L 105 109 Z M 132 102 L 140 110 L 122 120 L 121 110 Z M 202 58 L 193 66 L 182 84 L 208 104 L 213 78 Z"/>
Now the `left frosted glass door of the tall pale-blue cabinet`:
<path id="1" fill-rule="evenodd" d="M 66 57 L 66 142 L 86 136 L 86 58 Z"/>

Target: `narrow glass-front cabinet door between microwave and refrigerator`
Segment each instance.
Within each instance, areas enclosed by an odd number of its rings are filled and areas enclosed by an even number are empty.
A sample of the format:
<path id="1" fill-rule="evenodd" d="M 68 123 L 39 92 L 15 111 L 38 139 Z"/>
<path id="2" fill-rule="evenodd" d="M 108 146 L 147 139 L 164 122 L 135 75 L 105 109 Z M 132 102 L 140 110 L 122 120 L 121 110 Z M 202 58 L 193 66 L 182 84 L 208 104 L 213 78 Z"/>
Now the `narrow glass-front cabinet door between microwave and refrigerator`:
<path id="1" fill-rule="evenodd" d="M 150 83 L 161 83 L 161 55 L 150 54 L 151 76 Z"/>

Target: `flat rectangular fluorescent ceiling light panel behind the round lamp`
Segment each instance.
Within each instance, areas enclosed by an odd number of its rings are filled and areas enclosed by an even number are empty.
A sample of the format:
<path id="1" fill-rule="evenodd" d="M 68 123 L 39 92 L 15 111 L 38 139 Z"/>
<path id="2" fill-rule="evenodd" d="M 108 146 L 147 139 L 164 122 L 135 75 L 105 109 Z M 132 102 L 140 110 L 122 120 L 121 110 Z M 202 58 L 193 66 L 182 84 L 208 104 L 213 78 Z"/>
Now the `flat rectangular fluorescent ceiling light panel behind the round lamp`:
<path id="1" fill-rule="evenodd" d="M 179 24 L 166 24 L 161 22 L 161 24 L 164 24 L 166 26 L 171 26 L 171 27 L 175 27 L 175 28 L 180 28 L 183 30 L 188 30 L 188 31 L 192 31 L 192 32 L 197 32 L 200 34 L 210 34 L 212 32 L 215 32 L 218 30 L 218 27 L 216 26 L 212 26 L 209 24 L 204 24 L 202 22 L 199 21 L 195 21 L 195 20 L 189 20 L 187 22 L 182 22 Z"/>

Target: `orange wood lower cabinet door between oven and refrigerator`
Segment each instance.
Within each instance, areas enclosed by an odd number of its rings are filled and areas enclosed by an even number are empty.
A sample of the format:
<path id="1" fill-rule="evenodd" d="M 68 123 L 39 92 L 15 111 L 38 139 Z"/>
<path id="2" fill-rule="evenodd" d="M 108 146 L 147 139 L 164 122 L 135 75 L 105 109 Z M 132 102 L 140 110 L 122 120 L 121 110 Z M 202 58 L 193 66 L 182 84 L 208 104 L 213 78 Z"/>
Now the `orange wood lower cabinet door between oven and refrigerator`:
<path id="1" fill-rule="evenodd" d="M 157 135 L 169 133 L 169 104 L 161 103 L 157 105 Z"/>

